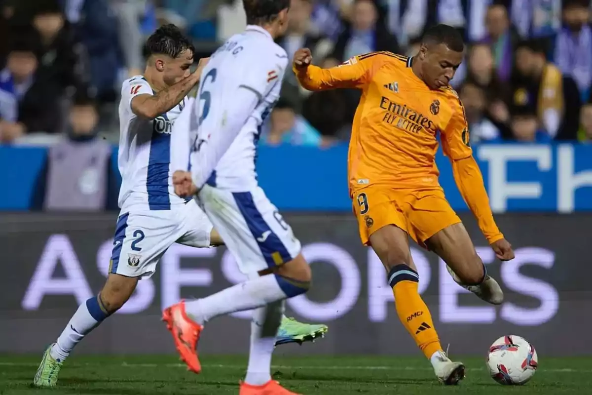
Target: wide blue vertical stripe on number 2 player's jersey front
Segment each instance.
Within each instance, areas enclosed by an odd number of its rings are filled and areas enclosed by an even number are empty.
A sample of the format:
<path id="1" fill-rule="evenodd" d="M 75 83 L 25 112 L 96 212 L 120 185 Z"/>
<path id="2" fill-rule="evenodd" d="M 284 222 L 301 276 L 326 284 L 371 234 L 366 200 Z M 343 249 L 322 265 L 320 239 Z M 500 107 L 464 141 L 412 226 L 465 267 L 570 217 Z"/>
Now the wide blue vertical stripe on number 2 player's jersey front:
<path id="1" fill-rule="evenodd" d="M 166 128 L 166 125 L 169 124 L 168 117 L 166 114 L 161 117 L 164 118 L 163 124 Z M 161 125 L 158 118 L 152 121 L 153 131 L 146 176 L 148 206 L 150 210 L 170 210 L 170 130 L 160 130 L 159 133 L 158 129 Z"/>

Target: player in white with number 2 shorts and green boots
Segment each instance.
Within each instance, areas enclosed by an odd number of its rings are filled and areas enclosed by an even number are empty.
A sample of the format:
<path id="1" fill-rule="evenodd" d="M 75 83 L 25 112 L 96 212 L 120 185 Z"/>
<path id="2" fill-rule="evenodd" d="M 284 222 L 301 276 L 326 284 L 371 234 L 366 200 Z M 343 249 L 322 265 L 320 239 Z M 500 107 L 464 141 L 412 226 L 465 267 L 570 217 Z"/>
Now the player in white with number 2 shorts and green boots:
<path id="1" fill-rule="evenodd" d="M 107 282 L 96 297 L 79 306 L 62 335 L 46 349 L 34 378 L 40 387 L 53 387 L 63 361 L 85 335 L 120 309 L 137 281 L 154 274 L 173 243 L 207 248 L 223 245 L 204 212 L 192 199 L 173 192 L 172 170 L 185 142 L 172 137 L 175 120 L 189 103 L 188 92 L 199 82 L 205 65 L 189 72 L 194 48 L 174 25 L 157 30 L 146 43 L 144 75 L 124 81 L 121 88 L 120 150 L 121 208 Z M 324 325 L 284 319 L 282 342 L 303 342 L 323 335 Z"/>

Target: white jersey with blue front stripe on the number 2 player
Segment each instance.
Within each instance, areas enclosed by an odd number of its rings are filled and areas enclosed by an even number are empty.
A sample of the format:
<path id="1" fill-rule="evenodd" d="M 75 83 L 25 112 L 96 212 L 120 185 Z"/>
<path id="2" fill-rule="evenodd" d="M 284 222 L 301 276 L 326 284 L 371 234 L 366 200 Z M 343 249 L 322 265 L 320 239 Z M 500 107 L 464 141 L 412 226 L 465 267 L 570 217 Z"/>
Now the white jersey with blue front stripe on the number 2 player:
<path id="1" fill-rule="evenodd" d="M 187 98 L 168 113 L 150 120 L 131 111 L 131 99 L 146 94 L 153 95 L 153 91 L 143 76 L 134 76 L 123 82 L 117 158 L 122 178 L 118 204 L 122 211 L 131 207 L 170 210 L 171 205 L 185 202 L 175 195 L 172 187 L 172 172 L 175 169 L 170 166 L 170 134 Z"/>

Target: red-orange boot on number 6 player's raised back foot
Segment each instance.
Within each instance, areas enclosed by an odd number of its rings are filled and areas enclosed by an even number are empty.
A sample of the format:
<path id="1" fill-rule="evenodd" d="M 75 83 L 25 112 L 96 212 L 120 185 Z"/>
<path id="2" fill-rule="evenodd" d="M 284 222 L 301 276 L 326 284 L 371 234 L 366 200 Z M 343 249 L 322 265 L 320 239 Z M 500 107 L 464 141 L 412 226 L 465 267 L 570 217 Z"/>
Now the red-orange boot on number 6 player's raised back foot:
<path id="1" fill-rule="evenodd" d="M 190 319 L 185 312 L 185 301 L 173 304 L 162 312 L 166 329 L 173 335 L 173 341 L 187 370 L 201 372 L 200 359 L 197 358 L 197 342 L 204 327 Z"/>

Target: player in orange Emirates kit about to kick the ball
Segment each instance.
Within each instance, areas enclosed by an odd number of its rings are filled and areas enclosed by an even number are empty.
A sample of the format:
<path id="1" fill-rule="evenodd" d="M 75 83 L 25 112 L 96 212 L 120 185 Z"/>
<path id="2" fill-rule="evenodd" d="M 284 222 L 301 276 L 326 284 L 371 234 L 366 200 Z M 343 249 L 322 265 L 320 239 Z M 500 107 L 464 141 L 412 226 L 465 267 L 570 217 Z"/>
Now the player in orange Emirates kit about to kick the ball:
<path id="1" fill-rule="evenodd" d="M 310 50 L 294 55 L 294 72 L 304 88 L 362 90 L 348 155 L 349 192 L 360 236 L 387 269 L 401 322 L 445 384 L 458 383 L 465 367 L 442 351 L 431 314 L 417 291 L 419 275 L 407 235 L 437 253 L 452 269 L 455 281 L 483 300 L 500 304 L 503 292 L 487 275 L 439 185 L 438 134 L 456 184 L 491 248 L 502 261 L 514 258 L 493 219 L 472 156 L 464 108 L 448 85 L 463 51 L 455 28 L 436 25 L 426 31 L 414 57 L 374 52 L 321 69 L 311 65 Z"/>

